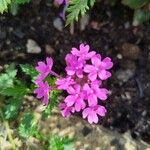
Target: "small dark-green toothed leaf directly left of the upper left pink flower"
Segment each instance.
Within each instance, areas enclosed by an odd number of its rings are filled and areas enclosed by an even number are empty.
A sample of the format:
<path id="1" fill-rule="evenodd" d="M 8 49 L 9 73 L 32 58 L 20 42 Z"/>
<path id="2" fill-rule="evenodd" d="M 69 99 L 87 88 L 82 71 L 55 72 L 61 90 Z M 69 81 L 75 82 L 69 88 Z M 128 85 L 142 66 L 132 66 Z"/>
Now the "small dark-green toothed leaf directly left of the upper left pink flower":
<path id="1" fill-rule="evenodd" d="M 35 68 L 29 64 L 21 64 L 20 65 L 21 70 L 26 74 L 29 75 L 32 78 L 32 81 L 35 80 L 36 76 L 38 75 L 38 72 L 35 70 Z"/>

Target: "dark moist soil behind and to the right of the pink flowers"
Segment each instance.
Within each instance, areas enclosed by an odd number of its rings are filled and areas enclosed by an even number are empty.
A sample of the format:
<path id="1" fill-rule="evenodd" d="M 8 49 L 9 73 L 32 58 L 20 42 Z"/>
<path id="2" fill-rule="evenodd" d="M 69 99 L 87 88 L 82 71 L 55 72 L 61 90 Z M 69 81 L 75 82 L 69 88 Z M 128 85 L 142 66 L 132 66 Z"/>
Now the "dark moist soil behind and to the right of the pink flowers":
<path id="1" fill-rule="evenodd" d="M 45 45 L 54 50 L 55 69 L 62 72 L 65 67 L 64 57 L 71 47 L 84 42 L 102 55 L 113 59 L 113 77 L 107 83 L 111 96 L 106 102 L 108 115 L 102 120 L 103 126 L 120 132 L 130 131 L 134 138 L 150 142 L 150 26 L 132 27 L 133 12 L 117 5 L 110 7 L 104 3 L 97 5 L 89 13 L 90 20 L 84 31 L 75 26 L 73 35 L 69 27 L 62 32 L 53 26 L 59 9 L 44 0 L 40 4 L 23 6 L 17 16 L 10 14 L 0 17 L 0 64 L 17 62 L 35 64 L 45 59 Z M 128 25 L 128 26 L 126 26 Z M 28 54 L 26 43 L 35 40 L 42 48 L 40 54 Z M 125 63 L 126 58 L 118 58 L 121 46 L 131 43 L 138 46 L 137 59 L 129 59 L 134 64 Z M 126 50 L 128 53 L 128 49 Z M 134 55 L 134 53 L 133 53 Z M 134 56 L 133 56 L 134 57 Z M 132 77 L 126 82 L 117 78 L 117 71 L 131 69 Z"/>

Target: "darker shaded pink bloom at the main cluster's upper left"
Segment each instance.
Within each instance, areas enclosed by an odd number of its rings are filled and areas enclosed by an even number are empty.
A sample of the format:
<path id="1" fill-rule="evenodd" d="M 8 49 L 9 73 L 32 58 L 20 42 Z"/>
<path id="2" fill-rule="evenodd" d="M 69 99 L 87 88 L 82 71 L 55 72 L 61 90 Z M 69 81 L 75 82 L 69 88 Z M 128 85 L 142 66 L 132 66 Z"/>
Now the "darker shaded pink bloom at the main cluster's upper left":
<path id="1" fill-rule="evenodd" d="M 76 56 L 72 54 L 67 54 L 66 58 L 66 71 L 67 74 L 72 76 L 72 75 L 77 75 L 79 78 L 83 77 L 83 61 L 79 61 Z"/>

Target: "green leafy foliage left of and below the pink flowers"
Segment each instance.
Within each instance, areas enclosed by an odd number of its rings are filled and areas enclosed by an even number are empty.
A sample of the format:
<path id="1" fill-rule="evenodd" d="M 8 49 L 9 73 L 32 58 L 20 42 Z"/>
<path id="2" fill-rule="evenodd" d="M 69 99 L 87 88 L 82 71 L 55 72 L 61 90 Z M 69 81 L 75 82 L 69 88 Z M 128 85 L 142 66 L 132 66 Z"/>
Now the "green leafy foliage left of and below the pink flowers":
<path id="1" fill-rule="evenodd" d="M 35 89 L 33 81 L 37 76 L 37 71 L 28 64 L 20 66 L 10 64 L 5 68 L 5 71 L 0 74 L 0 122 L 4 126 L 4 133 L 1 131 L 0 134 L 0 149 L 5 148 L 8 143 L 11 145 L 10 149 L 21 148 L 17 142 L 21 141 L 22 144 L 25 144 L 29 137 L 38 139 L 41 149 L 65 150 L 66 147 L 72 149 L 73 139 L 59 137 L 51 133 L 43 134 L 39 129 L 39 120 L 35 117 L 35 112 L 29 109 L 28 103 L 25 102 L 24 96 L 31 95 L 33 89 Z M 22 73 L 25 74 L 22 78 L 29 77 L 28 83 L 18 78 L 17 72 L 19 70 L 16 68 L 22 70 Z M 53 83 L 53 81 L 53 78 L 49 79 L 50 83 Z M 42 112 L 42 119 L 50 116 L 52 109 L 57 104 L 57 97 L 57 92 L 51 92 L 52 102 Z M 13 125 L 14 121 L 18 124 L 16 127 Z M 8 143 L 6 144 L 6 142 Z M 30 148 L 28 145 L 26 147 Z"/>

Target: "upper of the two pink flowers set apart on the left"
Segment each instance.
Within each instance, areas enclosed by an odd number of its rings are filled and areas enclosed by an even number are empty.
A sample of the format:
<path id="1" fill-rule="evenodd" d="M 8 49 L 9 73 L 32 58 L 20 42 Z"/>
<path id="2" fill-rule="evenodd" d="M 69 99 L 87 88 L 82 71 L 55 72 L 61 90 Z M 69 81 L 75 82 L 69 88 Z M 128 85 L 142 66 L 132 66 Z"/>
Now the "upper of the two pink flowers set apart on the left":
<path id="1" fill-rule="evenodd" d="M 39 73 L 41 73 L 44 78 L 51 72 L 52 66 L 53 66 L 53 59 L 51 57 L 47 57 L 46 63 L 42 61 L 38 62 L 38 66 L 36 67 L 36 70 Z"/>

